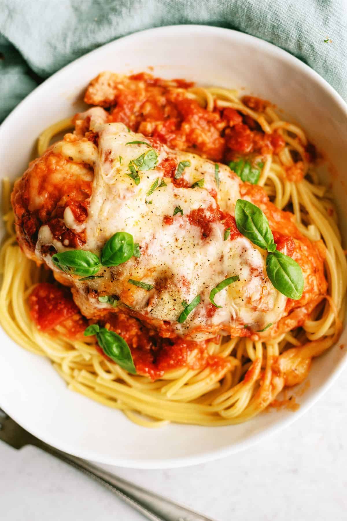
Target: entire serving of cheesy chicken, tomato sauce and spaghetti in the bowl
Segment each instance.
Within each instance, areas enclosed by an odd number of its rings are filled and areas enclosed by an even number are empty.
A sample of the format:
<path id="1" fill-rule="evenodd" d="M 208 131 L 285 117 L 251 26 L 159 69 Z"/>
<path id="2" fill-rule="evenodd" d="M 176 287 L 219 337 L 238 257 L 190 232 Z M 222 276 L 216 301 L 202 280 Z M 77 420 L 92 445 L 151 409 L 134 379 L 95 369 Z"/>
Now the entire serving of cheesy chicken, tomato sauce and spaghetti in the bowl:
<path id="1" fill-rule="evenodd" d="M 85 102 L 11 194 L 3 269 L 28 271 L 40 349 L 141 425 L 249 419 L 339 333 L 345 258 L 314 146 L 270 102 L 184 80 L 103 72 Z"/>

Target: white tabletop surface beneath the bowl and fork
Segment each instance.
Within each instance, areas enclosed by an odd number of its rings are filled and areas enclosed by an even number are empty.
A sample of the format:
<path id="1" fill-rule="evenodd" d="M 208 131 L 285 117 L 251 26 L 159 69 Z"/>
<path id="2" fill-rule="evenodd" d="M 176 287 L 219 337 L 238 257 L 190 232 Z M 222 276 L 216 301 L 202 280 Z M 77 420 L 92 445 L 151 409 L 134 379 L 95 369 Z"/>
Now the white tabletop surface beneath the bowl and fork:
<path id="1" fill-rule="evenodd" d="M 181 469 L 108 467 L 217 521 L 347 519 L 347 372 L 294 424 L 223 460 Z M 4 521 L 141 521 L 90 478 L 27 447 L 0 442 Z"/>

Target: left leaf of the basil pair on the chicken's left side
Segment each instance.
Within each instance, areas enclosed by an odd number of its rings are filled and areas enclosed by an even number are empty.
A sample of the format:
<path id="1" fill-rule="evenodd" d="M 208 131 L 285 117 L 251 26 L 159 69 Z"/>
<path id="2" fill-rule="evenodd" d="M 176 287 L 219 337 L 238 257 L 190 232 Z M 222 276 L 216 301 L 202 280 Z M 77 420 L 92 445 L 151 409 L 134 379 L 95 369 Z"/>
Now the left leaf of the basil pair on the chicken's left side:
<path id="1" fill-rule="evenodd" d="M 99 257 L 95 253 L 84 250 L 55 253 L 52 262 L 61 271 L 82 277 L 95 275 L 101 268 Z"/>

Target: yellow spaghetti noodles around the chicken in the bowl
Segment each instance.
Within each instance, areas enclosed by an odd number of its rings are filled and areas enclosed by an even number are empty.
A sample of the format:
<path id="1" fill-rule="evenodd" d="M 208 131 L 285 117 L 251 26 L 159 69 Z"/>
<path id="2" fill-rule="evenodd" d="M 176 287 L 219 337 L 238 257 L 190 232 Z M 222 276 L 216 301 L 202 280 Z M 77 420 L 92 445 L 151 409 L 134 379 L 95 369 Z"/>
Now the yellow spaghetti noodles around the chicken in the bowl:
<path id="1" fill-rule="evenodd" d="M 269 341 L 210 341 L 209 355 L 228 362 L 217 369 L 178 368 L 152 381 L 110 362 L 96 351 L 89 337 L 85 341 L 69 339 L 61 326 L 56 327 L 54 336 L 39 331 L 30 316 L 28 296 L 35 284 L 47 280 L 48 271 L 37 267 L 16 244 L 14 213 L 9 207 L 10 183 L 4 180 L 3 218 L 8 237 L 0 254 L 2 327 L 23 348 L 49 358 L 71 390 L 119 409 L 145 427 L 170 422 L 220 426 L 252 418 L 286 386 L 302 381 L 312 358 L 336 342 L 344 316 L 347 265 L 336 212 L 331 194 L 318 183 L 307 161 L 303 130 L 282 121 L 271 106 L 262 112 L 250 108 L 233 90 L 191 88 L 188 96 L 209 111 L 214 107 L 235 109 L 256 121 L 265 134 L 277 131 L 286 146 L 278 154 L 266 155 L 258 184 L 278 208 L 292 209 L 305 237 L 310 241 L 323 239 L 326 249 L 328 295 L 303 326 Z M 46 129 L 38 139 L 38 154 L 43 154 L 54 135 L 69 128 L 68 118 Z M 302 180 L 288 178 L 291 168 L 300 168 Z"/>

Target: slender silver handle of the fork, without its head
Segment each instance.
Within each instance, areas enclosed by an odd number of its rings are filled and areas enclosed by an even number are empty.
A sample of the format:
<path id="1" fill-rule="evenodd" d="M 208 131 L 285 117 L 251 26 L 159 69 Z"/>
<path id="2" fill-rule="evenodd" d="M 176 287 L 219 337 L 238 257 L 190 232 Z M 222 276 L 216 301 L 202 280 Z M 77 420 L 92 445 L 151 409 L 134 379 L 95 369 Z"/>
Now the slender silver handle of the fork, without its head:
<path id="1" fill-rule="evenodd" d="M 59 460 L 81 470 L 87 476 L 96 479 L 101 485 L 107 487 L 120 499 L 125 501 L 125 503 L 135 508 L 135 510 L 151 521 L 213 521 L 213 519 L 209 517 L 193 512 L 160 495 L 118 478 L 86 460 L 55 449 L 41 440 L 37 439 L 35 445 L 53 454 L 59 458 Z"/>

